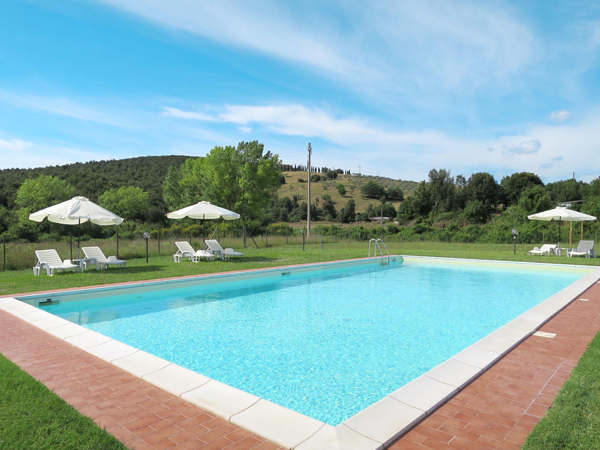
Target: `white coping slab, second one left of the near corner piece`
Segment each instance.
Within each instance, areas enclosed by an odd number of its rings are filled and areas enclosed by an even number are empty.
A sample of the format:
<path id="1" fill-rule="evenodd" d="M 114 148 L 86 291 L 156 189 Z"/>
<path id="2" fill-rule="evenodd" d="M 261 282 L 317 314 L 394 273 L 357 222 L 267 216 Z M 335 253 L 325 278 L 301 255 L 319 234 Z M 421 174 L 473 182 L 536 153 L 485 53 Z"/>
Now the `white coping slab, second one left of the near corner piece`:
<path id="1" fill-rule="evenodd" d="M 196 389 L 185 392 L 181 398 L 227 420 L 260 400 L 256 395 L 248 394 L 217 380 L 210 380 Z"/>

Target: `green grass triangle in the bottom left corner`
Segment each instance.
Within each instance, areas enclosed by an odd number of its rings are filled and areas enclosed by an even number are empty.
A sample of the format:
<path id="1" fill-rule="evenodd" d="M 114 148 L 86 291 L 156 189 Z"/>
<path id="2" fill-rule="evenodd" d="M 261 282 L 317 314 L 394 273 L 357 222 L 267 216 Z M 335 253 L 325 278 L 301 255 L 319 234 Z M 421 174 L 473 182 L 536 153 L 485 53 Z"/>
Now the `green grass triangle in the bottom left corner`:
<path id="1" fill-rule="evenodd" d="M 43 383 L 0 355 L 0 448 L 126 450 Z"/>

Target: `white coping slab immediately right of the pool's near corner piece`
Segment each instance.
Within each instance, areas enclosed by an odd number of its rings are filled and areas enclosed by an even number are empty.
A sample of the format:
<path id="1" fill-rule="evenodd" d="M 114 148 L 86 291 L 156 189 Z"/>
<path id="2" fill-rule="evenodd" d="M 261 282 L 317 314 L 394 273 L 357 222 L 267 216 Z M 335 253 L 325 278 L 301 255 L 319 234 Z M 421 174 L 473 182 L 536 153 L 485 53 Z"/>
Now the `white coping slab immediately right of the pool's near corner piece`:
<path id="1" fill-rule="evenodd" d="M 343 424 L 356 433 L 387 446 L 423 418 L 425 411 L 388 395 L 346 419 Z"/>

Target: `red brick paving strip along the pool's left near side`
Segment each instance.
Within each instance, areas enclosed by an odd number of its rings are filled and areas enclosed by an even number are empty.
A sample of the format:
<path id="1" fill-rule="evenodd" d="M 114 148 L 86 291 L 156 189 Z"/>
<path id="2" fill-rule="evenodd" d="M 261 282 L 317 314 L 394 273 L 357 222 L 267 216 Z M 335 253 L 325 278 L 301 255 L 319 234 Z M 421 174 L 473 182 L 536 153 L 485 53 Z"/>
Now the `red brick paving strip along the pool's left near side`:
<path id="1" fill-rule="evenodd" d="M 0 353 L 136 450 L 283 450 L 0 310 Z"/>

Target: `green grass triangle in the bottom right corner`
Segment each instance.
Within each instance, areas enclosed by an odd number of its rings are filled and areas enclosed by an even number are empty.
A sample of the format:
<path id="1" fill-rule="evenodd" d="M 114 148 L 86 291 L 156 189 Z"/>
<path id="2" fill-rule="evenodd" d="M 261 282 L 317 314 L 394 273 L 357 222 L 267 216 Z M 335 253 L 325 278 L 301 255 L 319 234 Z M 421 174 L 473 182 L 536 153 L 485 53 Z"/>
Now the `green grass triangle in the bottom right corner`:
<path id="1" fill-rule="evenodd" d="M 600 449 L 600 333 L 523 446 L 523 450 L 575 449 Z"/>

